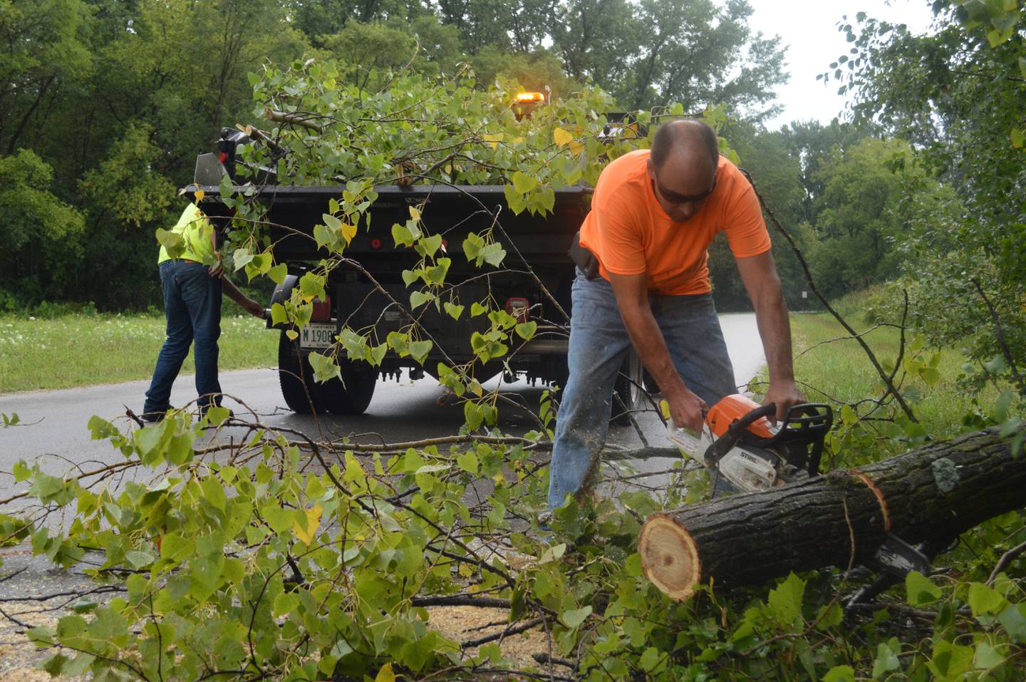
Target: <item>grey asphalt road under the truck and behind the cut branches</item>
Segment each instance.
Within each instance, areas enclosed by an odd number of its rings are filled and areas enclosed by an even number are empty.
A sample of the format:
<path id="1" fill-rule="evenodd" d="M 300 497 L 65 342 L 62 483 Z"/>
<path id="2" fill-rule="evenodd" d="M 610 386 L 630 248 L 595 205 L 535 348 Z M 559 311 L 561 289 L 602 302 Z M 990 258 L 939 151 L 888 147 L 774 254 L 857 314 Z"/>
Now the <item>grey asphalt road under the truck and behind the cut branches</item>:
<path id="1" fill-rule="evenodd" d="M 765 362 L 755 316 L 721 315 L 720 323 L 734 361 L 737 384 L 743 386 Z M 358 436 L 360 441 L 381 442 L 384 439 L 400 442 L 450 435 L 463 424 L 463 410 L 459 406 L 436 404 L 441 389 L 430 377 L 416 382 L 405 377 L 398 383 L 380 380 L 365 414 L 347 417 L 326 415 L 320 417 L 319 423 L 284 407 L 274 368 L 224 372 L 221 384 L 226 395 L 244 401 L 261 422 L 272 427 L 303 431 L 312 437 Z M 37 459 L 44 470 L 53 474 L 63 474 L 75 467 L 94 468 L 96 463 L 123 460 L 120 452 L 114 450 L 109 442 L 91 440 L 86 425 L 89 417 L 96 414 L 127 428 L 129 422 L 125 408 L 141 411 L 148 385 L 143 380 L 0 395 L 0 412 L 16 412 L 22 419 L 22 425 L 17 427 L 0 429 L 0 499 L 18 490 L 9 476 L 18 459 Z M 494 382 L 491 386 L 495 386 Z M 515 394 L 531 406 L 538 405 L 542 393 L 540 386 L 530 387 L 524 382 L 506 385 L 503 390 Z M 182 405 L 195 396 L 193 377 L 180 376 L 171 393 L 171 403 Z M 226 405 L 240 415 L 244 411 L 227 398 Z M 522 413 L 517 414 L 510 409 L 500 411 L 501 428 L 506 432 L 523 433 L 535 428 L 534 423 Z M 665 444 L 661 423 L 655 415 L 641 418 L 640 423 L 654 444 Z M 220 438 L 227 440 L 240 437 L 243 433 L 242 429 L 224 429 Z M 630 427 L 613 429 L 609 439 L 625 445 L 638 444 L 637 435 Z M 663 465 L 662 468 L 665 468 L 665 463 Z M 658 464 L 654 466 L 660 467 Z"/>

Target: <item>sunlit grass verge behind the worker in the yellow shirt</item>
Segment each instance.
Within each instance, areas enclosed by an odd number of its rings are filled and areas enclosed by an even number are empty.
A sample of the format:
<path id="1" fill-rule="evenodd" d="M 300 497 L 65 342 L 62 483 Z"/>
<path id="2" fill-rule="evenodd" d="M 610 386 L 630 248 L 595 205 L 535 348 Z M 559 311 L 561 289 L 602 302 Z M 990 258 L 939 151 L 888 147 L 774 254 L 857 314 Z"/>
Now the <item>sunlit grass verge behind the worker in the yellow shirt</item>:
<path id="1" fill-rule="evenodd" d="M 163 343 L 153 315 L 0 317 L 0 393 L 149 378 Z M 277 366 L 278 333 L 254 317 L 223 317 L 219 346 L 222 370 Z M 190 353 L 181 373 L 194 371 Z"/>

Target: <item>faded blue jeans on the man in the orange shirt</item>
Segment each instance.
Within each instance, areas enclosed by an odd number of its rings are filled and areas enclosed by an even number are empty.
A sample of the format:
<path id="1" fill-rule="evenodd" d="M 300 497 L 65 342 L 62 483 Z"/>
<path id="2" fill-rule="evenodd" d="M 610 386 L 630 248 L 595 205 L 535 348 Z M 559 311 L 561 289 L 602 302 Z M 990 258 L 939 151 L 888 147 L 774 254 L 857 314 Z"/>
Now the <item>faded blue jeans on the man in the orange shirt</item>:
<path id="1" fill-rule="evenodd" d="M 573 288 L 567 360 L 569 380 L 556 416 L 549 467 L 549 509 L 590 487 L 598 472 L 613 408 L 613 387 L 631 346 L 613 287 L 578 271 Z M 670 357 L 687 388 L 712 405 L 737 393 L 712 294 L 648 294 L 648 304 Z"/>

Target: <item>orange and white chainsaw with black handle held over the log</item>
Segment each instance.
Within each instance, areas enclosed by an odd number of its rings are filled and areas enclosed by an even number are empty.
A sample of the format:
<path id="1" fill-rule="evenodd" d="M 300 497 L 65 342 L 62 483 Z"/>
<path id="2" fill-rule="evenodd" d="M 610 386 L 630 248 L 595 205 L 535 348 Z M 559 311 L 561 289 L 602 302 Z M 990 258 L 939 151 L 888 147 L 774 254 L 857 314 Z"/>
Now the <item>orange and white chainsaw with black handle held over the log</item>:
<path id="1" fill-rule="evenodd" d="M 711 469 L 717 479 L 721 477 L 742 492 L 817 476 L 833 410 L 824 403 L 802 403 L 773 427 L 766 417 L 776 411 L 773 403 L 759 405 L 740 394 L 726 396 L 704 414 L 701 434 L 679 429 L 670 420 L 667 437 L 681 452 Z"/>

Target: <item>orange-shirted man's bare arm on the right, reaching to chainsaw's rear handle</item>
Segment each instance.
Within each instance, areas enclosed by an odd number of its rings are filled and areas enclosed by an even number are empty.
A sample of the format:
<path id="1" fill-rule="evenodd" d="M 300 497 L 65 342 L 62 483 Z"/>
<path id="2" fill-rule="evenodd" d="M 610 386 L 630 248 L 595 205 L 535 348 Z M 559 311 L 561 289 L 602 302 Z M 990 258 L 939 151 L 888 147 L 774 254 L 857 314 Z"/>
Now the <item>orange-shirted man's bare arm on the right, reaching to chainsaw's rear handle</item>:
<path id="1" fill-rule="evenodd" d="M 748 297 L 755 307 L 755 322 L 762 338 L 766 364 L 770 366 L 770 389 L 763 404 L 776 403 L 776 422 L 787 416 L 792 405 L 805 401 L 794 384 L 791 362 L 791 323 L 787 317 L 784 291 L 777 277 L 777 266 L 770 251 L 747 258 L 738 258 L 738 272 Z"/>

